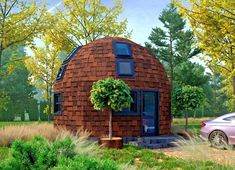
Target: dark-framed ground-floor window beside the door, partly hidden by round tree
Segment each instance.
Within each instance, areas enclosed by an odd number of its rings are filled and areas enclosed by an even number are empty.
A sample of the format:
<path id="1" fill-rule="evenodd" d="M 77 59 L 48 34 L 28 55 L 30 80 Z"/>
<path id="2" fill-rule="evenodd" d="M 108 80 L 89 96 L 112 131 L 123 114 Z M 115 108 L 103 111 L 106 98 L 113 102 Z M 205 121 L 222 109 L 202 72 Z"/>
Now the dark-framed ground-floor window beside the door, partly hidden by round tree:
<path id="1" fill-rule="evenodd" d="M 139 114 L 139 104 L 138 104 L 138 92 L 131 91 L 132 102 L 130 108 L 124 108 L 120 112 L 114 112 L 114 115 L 125 116 L 125 115 L 138 115 Z"/>

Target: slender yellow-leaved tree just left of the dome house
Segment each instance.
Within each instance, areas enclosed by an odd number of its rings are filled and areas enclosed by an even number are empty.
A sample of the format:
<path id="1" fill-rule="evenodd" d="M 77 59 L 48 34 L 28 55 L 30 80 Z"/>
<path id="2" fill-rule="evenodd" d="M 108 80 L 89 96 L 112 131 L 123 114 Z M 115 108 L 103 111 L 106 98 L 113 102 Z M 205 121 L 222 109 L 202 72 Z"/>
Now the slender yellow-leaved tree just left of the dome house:
<path id="1" fill-rule="evenodd" d="M 62 63 L 60 51 L 49 44 L 32 50 L 34 55 L 25 61 L 25 65 L 31 73 L 30 82 L 43 92 L 47 101 L 45 112 L 48 114 L 48 121 L 50 121 L 50 115 L 53 112 L 53 85 Z"/>

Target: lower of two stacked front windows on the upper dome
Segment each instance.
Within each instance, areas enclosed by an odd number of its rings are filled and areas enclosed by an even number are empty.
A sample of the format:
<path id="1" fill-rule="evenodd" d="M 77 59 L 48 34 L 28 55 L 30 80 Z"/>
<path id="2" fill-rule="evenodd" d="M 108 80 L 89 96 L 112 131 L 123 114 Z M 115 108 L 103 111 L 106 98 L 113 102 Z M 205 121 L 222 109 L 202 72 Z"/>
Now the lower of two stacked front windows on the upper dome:
<path id="1" fill-rule="evenodd" d="M 133 60 L 117 60 L 116 71 L 118 77 L 133 77 L 134 76 Z"/>

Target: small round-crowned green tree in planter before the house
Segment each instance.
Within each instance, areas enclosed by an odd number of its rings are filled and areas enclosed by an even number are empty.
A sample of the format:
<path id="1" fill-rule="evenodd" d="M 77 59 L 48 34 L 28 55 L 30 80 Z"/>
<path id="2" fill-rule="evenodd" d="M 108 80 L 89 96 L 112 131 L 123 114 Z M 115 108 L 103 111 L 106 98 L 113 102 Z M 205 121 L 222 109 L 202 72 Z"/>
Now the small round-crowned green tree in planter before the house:
<path id="1" fill-rule="evenodd" d="M 132 98 L 129 86 L 122 80 L 106 78 L 92 85 L 91 103 L 96 110 L 109 109 L 109 139 L 112 139 L 112 110 L 117 112 L 129 108 Z"/>

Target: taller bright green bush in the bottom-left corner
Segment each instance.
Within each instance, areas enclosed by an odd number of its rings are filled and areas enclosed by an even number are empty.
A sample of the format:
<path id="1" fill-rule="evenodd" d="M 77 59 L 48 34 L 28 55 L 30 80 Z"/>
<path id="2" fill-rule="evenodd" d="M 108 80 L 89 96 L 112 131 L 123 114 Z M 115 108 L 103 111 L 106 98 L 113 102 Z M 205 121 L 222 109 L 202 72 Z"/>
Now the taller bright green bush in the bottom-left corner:
<path id="1" fill-rule="evenodd" d="M 75 155 L 75 145 L 70 138 L 50 144 L 36 136 L 28 142 L 13 142 L 11 157 L 0 165 L 0 169 L 43 170 L 56 166 L 60 158 L 73 158 Z"/>

